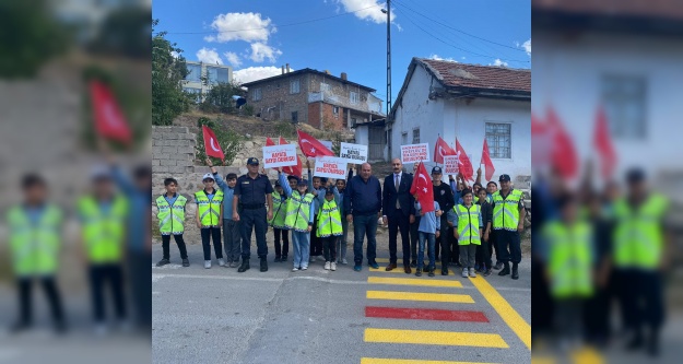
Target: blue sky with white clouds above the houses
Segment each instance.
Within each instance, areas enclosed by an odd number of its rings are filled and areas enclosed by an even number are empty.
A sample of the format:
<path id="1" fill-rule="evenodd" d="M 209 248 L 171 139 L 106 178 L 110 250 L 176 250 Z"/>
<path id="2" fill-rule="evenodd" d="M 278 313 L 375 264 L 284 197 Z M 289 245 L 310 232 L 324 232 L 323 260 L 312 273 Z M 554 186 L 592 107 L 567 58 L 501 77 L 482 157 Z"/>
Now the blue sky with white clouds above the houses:
<path id="1" fill-rule="evenodd" d="M 412 57 L 531 67 L 530 0 L 392 0 L 392 98 Z M 249 82 L 280 67 L 329 70 L 386 99 L 386 1 L 163 0 L 156 31 L 188 60 L 231 64 Z"/>

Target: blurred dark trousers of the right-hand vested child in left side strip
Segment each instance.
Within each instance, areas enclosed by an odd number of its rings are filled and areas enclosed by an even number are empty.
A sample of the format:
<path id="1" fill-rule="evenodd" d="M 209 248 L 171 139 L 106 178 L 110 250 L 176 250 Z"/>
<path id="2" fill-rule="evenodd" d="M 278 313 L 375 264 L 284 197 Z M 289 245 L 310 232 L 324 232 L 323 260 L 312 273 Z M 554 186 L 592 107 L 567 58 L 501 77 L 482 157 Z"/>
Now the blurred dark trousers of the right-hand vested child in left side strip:
<path id="1" fill-rule="evenodd" d="M 149 266 L 149 261 L 146 262 Z M 111 297 L 114 298 L 114 310 L 116 317 L 121 320 L 126 318 L 126 300 L 123 294 L 123 270 L 120 265 L 91 266 L 90 290 L 93 301 L 93 319 L 95 322 L 105 321 L 105 285 L 109 285 Z M 142 278 L 141 278 L 142 279 Z"/>

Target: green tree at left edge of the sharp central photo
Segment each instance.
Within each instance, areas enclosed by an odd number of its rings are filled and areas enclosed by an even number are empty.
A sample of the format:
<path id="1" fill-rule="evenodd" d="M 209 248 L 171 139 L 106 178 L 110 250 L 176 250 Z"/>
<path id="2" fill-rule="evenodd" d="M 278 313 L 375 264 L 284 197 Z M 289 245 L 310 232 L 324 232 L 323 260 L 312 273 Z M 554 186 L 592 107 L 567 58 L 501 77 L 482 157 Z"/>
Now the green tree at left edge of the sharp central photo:
<path id="1" fill-rule="evenodd" d="M 152 32 L 158 20 L 152 21 Z M 152 124 L 170 125 L 173 119 L 190 106 L 182 92 L 181 81 L 188 74 L 182 49 L 168 42 L 166 32 L 152 37 Z M 174 54 L 177 57 L 174 57 Z"/>

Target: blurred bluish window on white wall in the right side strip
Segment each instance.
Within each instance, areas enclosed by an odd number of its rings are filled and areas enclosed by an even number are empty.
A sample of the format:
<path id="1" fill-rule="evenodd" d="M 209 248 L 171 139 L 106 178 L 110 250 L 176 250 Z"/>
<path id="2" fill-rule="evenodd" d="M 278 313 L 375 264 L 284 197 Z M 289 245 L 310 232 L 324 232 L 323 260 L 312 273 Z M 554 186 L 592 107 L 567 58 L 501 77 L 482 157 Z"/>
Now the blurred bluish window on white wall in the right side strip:
<path id="1" fill-rule="evenodd" d="M 643 78 L 607 75 L 602 79 L 602 101 L 612 136 L 646 137 L 646 92 Z"/>

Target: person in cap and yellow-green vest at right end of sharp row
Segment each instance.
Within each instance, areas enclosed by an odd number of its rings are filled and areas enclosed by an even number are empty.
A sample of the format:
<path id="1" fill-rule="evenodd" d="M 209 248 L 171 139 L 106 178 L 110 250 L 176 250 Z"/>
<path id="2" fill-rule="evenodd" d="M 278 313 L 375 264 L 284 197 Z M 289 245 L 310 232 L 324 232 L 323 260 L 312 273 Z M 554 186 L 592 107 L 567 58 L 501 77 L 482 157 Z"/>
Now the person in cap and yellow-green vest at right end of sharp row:
<path id="1" fill-rule="evenodd" d="M 525 228 L 525 204 L 520 190 L 511 188 L 510 176 L 501 175 L 501 190 L 493 193 L 493 231 L 501 253 L 501 261 L 505 268 L 498 275 L 510 273 L 513 261 L 513 279 L 519 279 L 517 267 L 521 261 L 519 234 Z M 509 248 L 509 250 L 508 250 Z"/>

